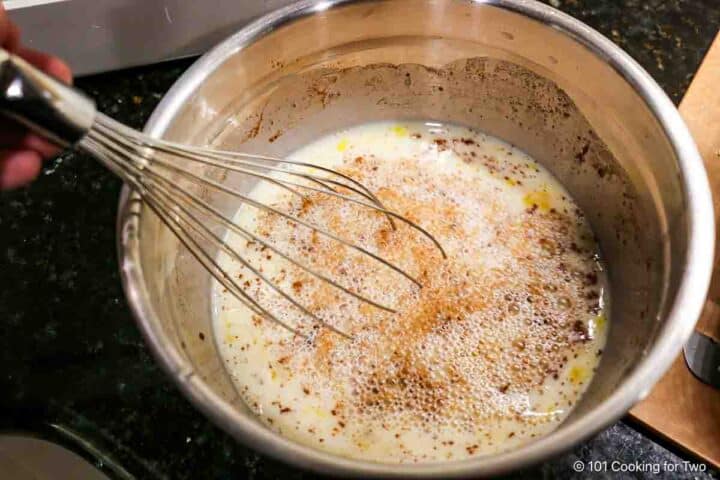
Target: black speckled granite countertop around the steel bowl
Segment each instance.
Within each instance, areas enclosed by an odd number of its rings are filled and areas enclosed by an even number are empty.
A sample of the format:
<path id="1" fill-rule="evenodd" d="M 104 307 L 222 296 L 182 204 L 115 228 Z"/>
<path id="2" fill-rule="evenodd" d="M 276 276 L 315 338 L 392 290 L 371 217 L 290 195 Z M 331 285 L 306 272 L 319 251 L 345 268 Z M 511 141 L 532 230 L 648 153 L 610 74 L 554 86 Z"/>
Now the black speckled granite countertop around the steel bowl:
<path id="1" fill-rule="evenodd" d="M 717 0 L 547 3 L 627 50 L 675 102 L 720 26 Z M 142 127 L 190 63 L 77 84 L 102 111 Z M 120 286 L 120 186 L 91 158 L 67 153 L 48 162 L 31 187 L 0 194 L 0 429 L 34 431 L 73 445 L 117 478 L 313 478 L 236 443 L 197 412 L 153 361 Z M 577 474 L 577 460 L 587 466 L 590 460 L 692 459 L 621 421 L 513 478 L 717 478 L 716 472 Z"/>

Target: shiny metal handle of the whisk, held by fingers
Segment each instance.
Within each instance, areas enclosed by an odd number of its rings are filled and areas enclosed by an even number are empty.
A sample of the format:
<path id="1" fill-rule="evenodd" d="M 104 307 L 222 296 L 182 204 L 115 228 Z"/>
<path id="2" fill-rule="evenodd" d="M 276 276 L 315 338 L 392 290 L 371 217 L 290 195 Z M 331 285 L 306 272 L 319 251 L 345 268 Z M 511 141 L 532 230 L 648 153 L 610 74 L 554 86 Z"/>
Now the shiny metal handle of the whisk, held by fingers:
<path id="1" fill-rule="evenodd" d="M 0 48 L 0 112 L 68 147 L 90 130 L 96 110 L 80 91 Z"/>

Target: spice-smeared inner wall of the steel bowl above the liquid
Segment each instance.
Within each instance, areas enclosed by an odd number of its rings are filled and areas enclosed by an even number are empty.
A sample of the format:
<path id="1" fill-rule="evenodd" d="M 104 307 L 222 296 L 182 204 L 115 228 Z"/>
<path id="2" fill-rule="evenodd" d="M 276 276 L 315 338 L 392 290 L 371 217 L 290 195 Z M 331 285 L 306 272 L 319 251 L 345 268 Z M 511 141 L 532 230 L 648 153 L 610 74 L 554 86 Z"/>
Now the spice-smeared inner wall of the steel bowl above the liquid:
<path id="1" fill-rule="evenodd" d="M 284 23 L 203 74 L 164 137 L 284 156 L 368 121 L 446 122 L 518 146 L 565 185 L 598 238 L 612 302 L 602 362 L 558 432 L 602 404 L 653 346 L 687 248 L 677 158 L 635 89 L 569 35 L 488 4 L 359 2 Z M 197 193 L 225 212 L 238 207 Z M 139 222 L 156 348 L 251 416 L 213 339 L 210 274 L 148 208 Z"/>

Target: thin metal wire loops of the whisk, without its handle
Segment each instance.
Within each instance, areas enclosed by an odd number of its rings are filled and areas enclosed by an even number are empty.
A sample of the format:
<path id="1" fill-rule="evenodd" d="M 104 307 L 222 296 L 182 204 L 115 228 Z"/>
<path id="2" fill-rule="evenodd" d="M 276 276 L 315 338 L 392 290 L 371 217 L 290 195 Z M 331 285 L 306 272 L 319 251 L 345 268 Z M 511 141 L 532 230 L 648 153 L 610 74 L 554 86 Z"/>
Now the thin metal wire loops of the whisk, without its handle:
<path id="1" fill-rule="evenodd" d="M 421 287 L 421 284 L 401 267 L 358 245 L 356 242 L 336 235 L 295 215 L 259 202 L 237 188 L 193 171 L 191 167 L 194 166 L 194 170 L 198 170 L 198 166 L 211 167 L 221 171 L 225 170 L 246 175 L 269 182 L 292 195 L 302 198 L 308 193 L 316 193 L 351 202 L 381 213 L 386 217 L 393 229 L 396 228 L 395 220 L 406 224 L 432 242 L 443 258 L 446 258 L 446 253 L 440 243 L 427 230 L 402 215 L 388 210 L 362 183 L 330 168 L 267 155 L 210 150 L 153 139 L 100 113 L 97 115 L 93 128 L 80 142 L 79 147 L 100 159 L 110 170 L 137 191 L 144 202 L 175 234 L 178 240 L 228 292 L 233 294 L 254 314 L 281 325 L 295 335 L 308 337 L 307 334 L 282 321 L 277 315 L 268 311 L 256 299 L 252 298 L 238 283 L 238 280 L 221 267 L 216 260 L 217 252 L 222 251 L 232 260 L 239 262 L 276 294 L 282 296 L 316 324 L 338 335 L 351 338 L 348 333 L 341 331 L 311 312 L 293 295 L 283 290 L 272 279 L 263 274 L 262 269 L 252 265 L 241 253 L 231 247 L 222 236 L 215 233 L 213 226 L 223 227 L 248 242 L 261 245 L 312 277 L 332 285 L 339 291 L 361 302 L 386 312 L 394 313 L 395 310 L 391 306 L 384 305 L 341 285 L 333 278 L 312 268 L 306 262 L 283 252 L 249 229 L 233 222 L 199 195 L 178 186 L 177 178 L 201 185 L 214 192 L 229 195 L 240 200 L 242 204 L 311 229 L 330 240 L 367 255 L 400 274 L 413 285 Z"/>

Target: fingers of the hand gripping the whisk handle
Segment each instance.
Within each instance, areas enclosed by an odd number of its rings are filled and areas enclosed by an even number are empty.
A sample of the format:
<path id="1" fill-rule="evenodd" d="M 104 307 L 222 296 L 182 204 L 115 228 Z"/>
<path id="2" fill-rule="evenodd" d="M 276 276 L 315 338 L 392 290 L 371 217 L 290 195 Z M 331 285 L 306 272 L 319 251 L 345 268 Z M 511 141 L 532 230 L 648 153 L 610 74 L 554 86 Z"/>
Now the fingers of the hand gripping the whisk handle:
<path id="1" fill-rule="evenodd" d="M 20 44 L 20 30 L 7 17 L 0 2 L 0 47 L 65 83 L 72 82 L 70 68 L 59 58 Z M 40 173 L 43 158 L 59 152 L 57 146 L 17 122 L 0 115 L 0 189 L 17 188 Z"/>

